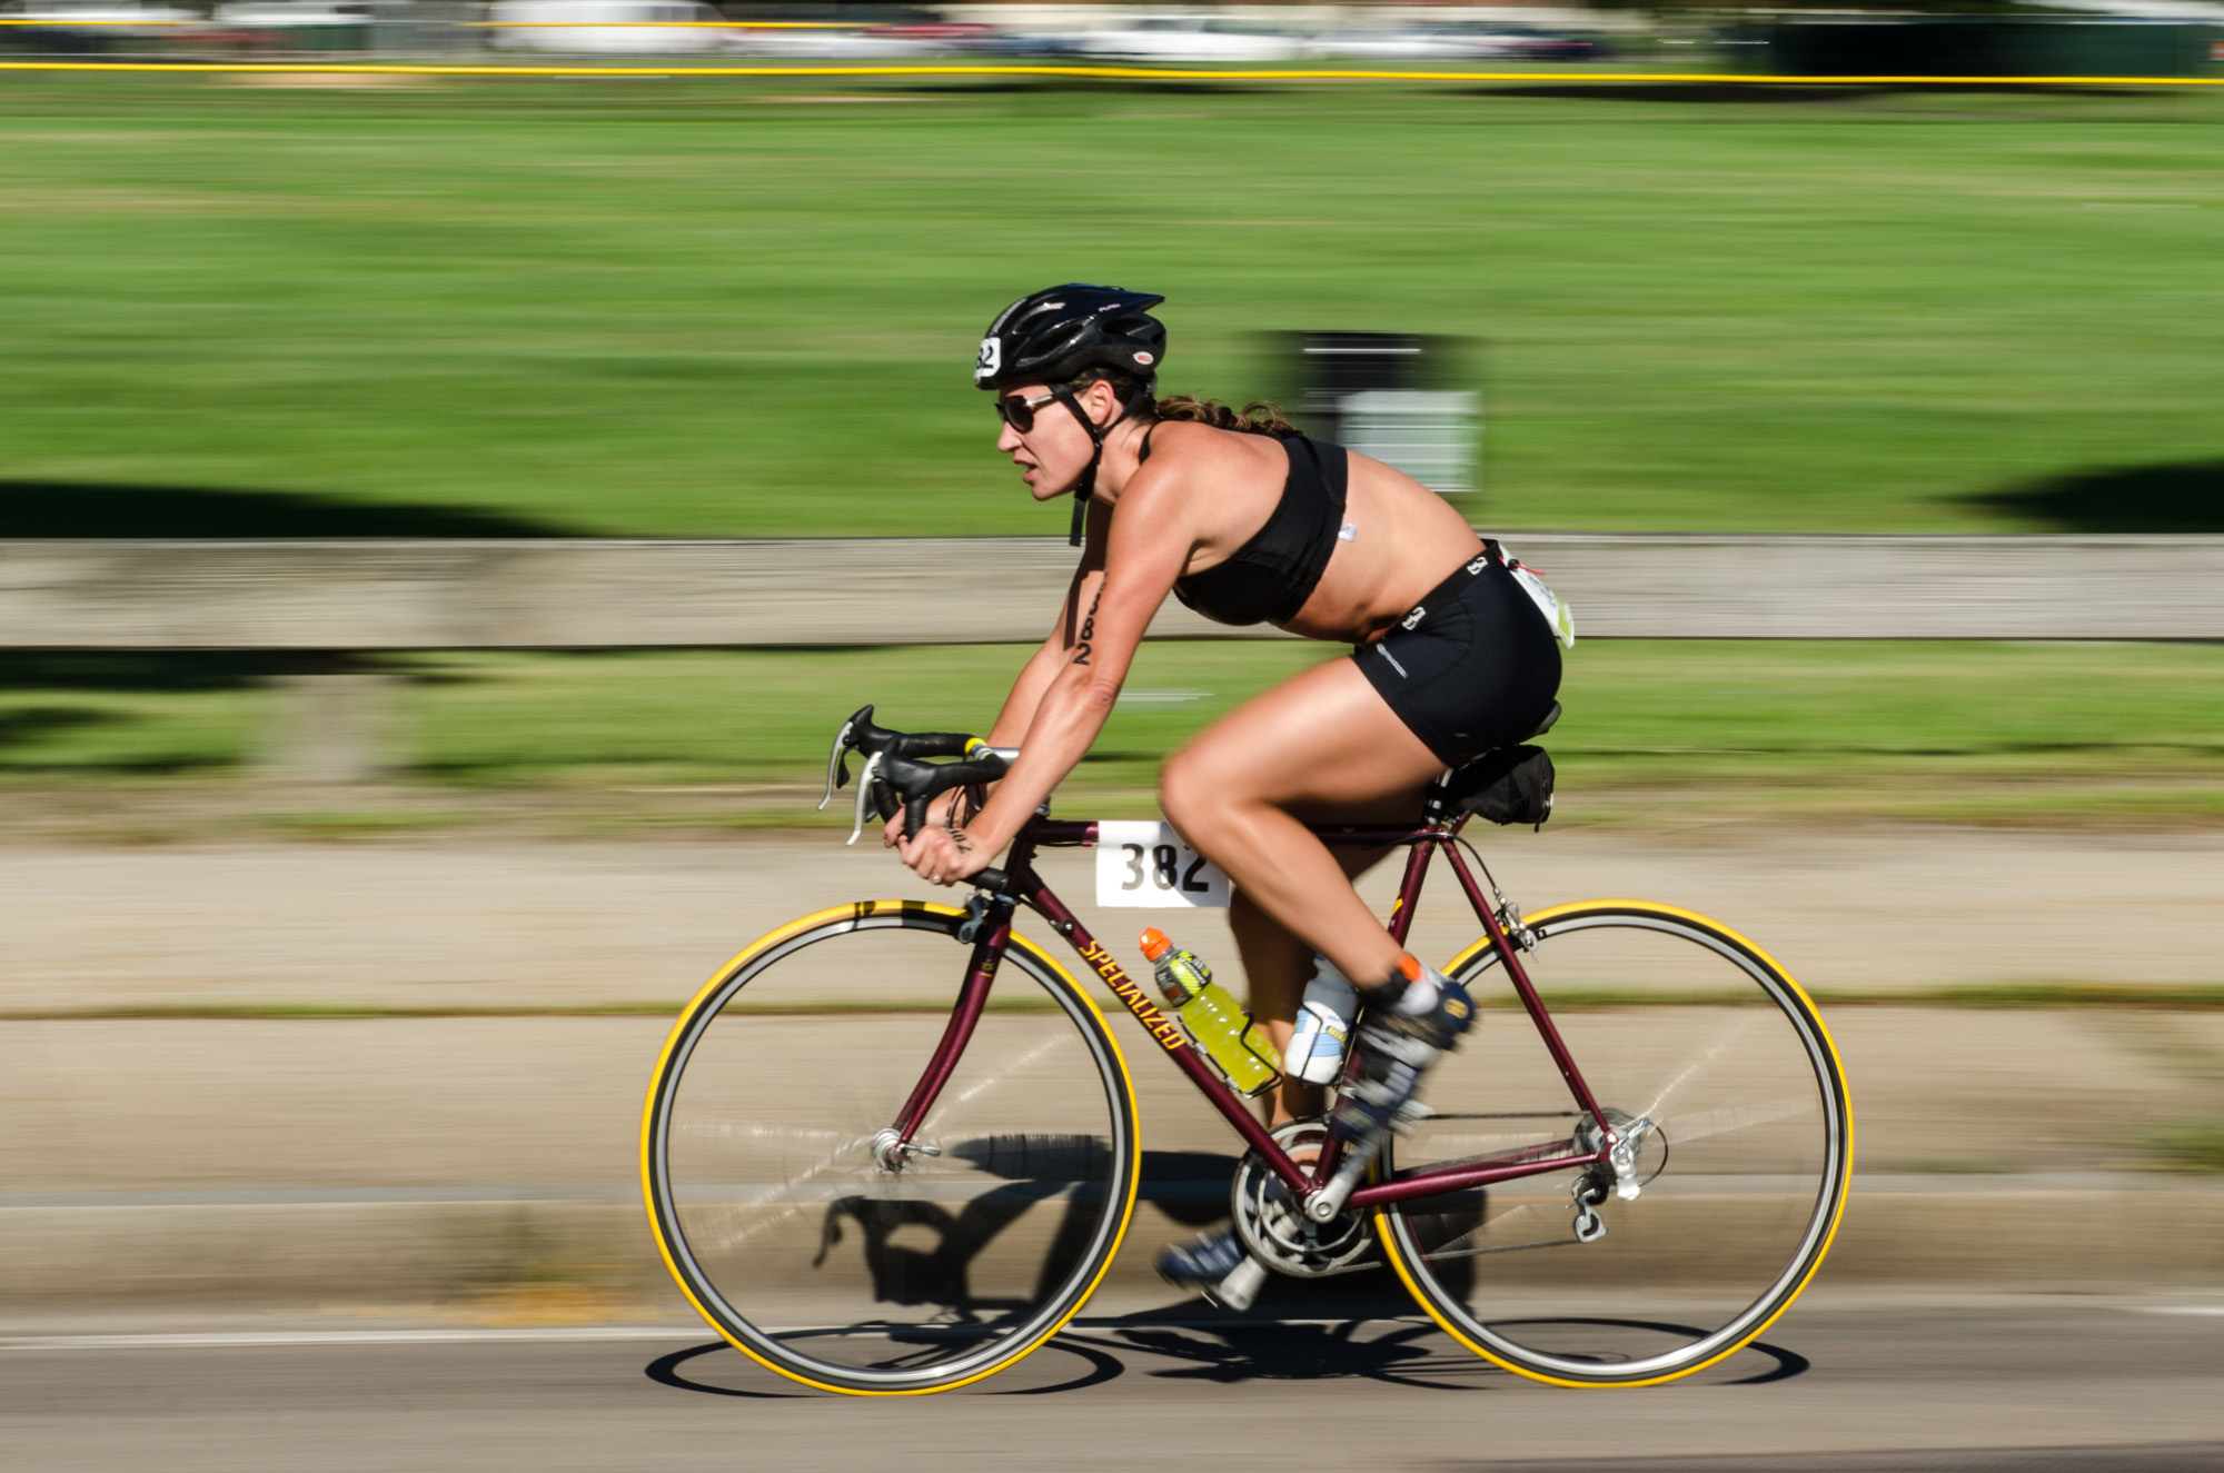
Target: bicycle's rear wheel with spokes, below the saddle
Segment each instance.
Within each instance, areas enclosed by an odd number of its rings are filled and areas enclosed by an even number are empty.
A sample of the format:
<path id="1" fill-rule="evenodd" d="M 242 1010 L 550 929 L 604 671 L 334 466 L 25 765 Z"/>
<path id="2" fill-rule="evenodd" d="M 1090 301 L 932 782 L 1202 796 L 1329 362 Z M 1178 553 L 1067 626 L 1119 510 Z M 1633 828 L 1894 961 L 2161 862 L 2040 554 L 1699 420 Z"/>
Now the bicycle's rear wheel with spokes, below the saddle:
<path id="1" fill-rule="evenodd" d="M 1588 901 L 1526 917 L 1550 1024 L 1630 1170 L 1557 1170 L 1383 1206 L 1399 1277 L 1463 1346 L 1563 1386 L 1690 1375 L 1759 1335 L 1815 1275 L 1853 1168 L 1846 1079 L 1815 1004 L 1704 917 Z M 1479 1010 L 1430 1070 L 1388 1173 L 1595 1150 L 1488 939 L 1448 968 Z M 1635 1195 L 1624 1190 L 1635 1186 Z"/>

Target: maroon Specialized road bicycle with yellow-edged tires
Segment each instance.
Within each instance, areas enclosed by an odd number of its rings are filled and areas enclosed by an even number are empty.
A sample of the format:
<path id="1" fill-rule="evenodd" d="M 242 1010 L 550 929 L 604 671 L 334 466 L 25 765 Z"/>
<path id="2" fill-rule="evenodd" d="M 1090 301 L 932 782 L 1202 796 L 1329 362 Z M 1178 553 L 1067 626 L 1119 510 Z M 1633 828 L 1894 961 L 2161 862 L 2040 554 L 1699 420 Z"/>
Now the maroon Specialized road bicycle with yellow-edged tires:
<path id="1" fill-rule="evenodd" d="M 872 714 L 827 772 L 832 797 L 863 754 L 858 823 L 901 810 L 916 832 L 930 799 L 1005 770 L 970 737 Z M 1539 748 L 1448 772 L 1419 823 L 1314 828 L 1406 850 L 1401 943 L 1439 854 L 1481 926 L 1443 963 L 1479 1024 L 1343 1202 L 1330 1121 L 1263 1126 L 1034 872 L 1039 850 L 1099 837 L 1045 803 L 965 906 L 801 917 L 687 1004 L 641 1133 L 672 1275 L 745 1355 L 865 1395 L 994 1375 L 1081 1311 L 1143 1186 L 1136 1099 L 1081 983 L 1012 928 L 1025 908 L 1243 1139 L 1230 1213 L 1257 1264 L 1388 1264 L 1452 1339 L 1541 1382 L 1646 1386 L 1724 1360 L 1813 1279 L 1844 1210 L 1837 1052 L 1806 992 L 1706 917 L 1626 899 L 1521 915 L 1461 834 L 1508 803 L 1548 812 Z"/>

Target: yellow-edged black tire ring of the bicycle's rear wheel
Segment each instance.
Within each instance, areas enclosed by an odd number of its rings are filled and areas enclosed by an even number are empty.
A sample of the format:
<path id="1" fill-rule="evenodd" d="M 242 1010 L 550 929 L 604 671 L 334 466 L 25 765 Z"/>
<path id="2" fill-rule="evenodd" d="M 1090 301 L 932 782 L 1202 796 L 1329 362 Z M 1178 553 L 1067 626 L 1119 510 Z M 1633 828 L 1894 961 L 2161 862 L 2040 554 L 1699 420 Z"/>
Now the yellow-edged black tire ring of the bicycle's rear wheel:
<path id="1" fill-rule="evenodd" d="M 1630 1364 L 1570 1364 L 1563 1357 L 1541 1357 L 1528 1353 L 1519 1344 L 1495 1335 L 1468 1311 L 1466 1304 L 1446 1293 L 1437 1284 L 1426 1255 L 1414 1242 L 1406 1224 L 1403 1208 L 1397 1204 L 1377 1208 L 1377 1239 L 1381 1242 L 1383 1257 L 1390 1262 L 1392 1271 L 1399 1279 L 1403 1279 L 1408 1293 L 1412 1293 L 1414 1302 L 1428 1313 L 1430 1319 L 1437 1322 L 1439 1328 L 1452 1335 L 1452 1339 L 1463 1344 L 1468 1351 L 1506 1371 L 1512 1371 L 1515 1375 L 1555 1386 L 1657 1386 L 1661 1382 L 1681 1380 L 1753 1344 L 1755 1337 L 1759 1337 L 1784 1315 L 1786 1308 L 1790 1308 L 1793 1299 L 1799 1297 L 1821 1268 L 1837 1233 L 1837 1224 L 1844 1219 L 1846 1195 L 1853 1184 L 1853 1108 L 1846 1095 L 1844 1064 L 1837 1057 L 1837 1046 L 1830 1041 L 1830 1030 L 1815 1010 L 1815 1001 L 1799 988 L 1797 981 L 1790 979 L 1788 972 L 1784 972 L 1784 968 L 1775 963 L 1773 957 L 1768 957 L 1768 952 L 1719 921 L 1650 901 L 1579 901 L 1572 906 L 1541 910 L 1526 917 L 1523 923 L 1537 932 L 1539 939 L 1548 939 L 1555 932 L 1610 923 L 1644 926 L 1664 935 L 1684 935 L 1686 939 L 1735 959 L 1746 975 L 1773 997 L 1799 1032 L 1799 1039 L 1808 1050 L 1808 1059 L 1817 1068 L 1821 1097 L 1835 1117 L 1833 1130 L 1828 1133 L 1830 1161 L 1826 1168 L 1826 1190 L 1817 1197 L 1815 1215 L 1808 1222 L 1799 1253 L 1793 1255 L 1793 1262 L 1786 1264 L 1770 1291 L 1755 1299 L 1755 1304 L 1748 1306 L 1730 1326 L 1692 1342 L 1681 1353 Z M 1466 981 L 1468 977 L 1497 966 L 1497 961 L 1499 948 L 1483 937 L 1461 950 L 1446 966 L 1446 975 Z M 1383 1170 L 1394 1168 L 1392 1157 L 1394 1144 L 1383 1150 Z"/>

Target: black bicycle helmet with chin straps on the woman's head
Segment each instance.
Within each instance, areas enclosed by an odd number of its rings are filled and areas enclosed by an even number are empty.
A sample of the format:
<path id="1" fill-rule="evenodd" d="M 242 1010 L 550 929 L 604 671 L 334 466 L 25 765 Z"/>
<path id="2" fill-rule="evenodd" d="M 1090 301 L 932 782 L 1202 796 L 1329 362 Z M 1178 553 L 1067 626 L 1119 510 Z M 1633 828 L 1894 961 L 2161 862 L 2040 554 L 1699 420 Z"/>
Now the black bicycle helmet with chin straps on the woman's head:
<path id="1" fill-rule="evenodd" d="M 1019 298 L 996 314 L 996 320 L 987 325 L 987 336 L 981 338 L 981 356 L 974 360 L 976 389 L 1001 392 L 1014 383 L 1045 383 L 1096 445 L 1096 454 L 1074 481 L 1074 530 L 1068 536 L 1074 547 L 1081 545 L 1090 492 L 1096 490 L 1096 465 L 1105 454 L 1105 434 L 1159 389 L 1165 325 L 1150 316 L 1150 309 L 1163 300 L 1150 291 L 1090 287 L 1072 280 Z M 1092 421 L 1081 401 L 1074 398 L 1074 380 L 1090 369 L 1112 369 L 1139 380 L 1110 425 Z"/>

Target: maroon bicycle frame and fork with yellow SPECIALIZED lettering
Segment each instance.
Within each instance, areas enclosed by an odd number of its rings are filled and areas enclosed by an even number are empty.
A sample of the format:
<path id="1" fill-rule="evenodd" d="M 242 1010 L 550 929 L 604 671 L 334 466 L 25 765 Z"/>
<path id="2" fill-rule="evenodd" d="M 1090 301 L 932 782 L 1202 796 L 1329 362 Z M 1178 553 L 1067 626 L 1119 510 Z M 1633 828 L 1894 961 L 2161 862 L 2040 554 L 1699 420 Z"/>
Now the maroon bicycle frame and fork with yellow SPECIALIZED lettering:
<path id="1" fill-rule="evenodd" d="M 1612 1126 L 1601 1115 L 1597 1099 L 1592 1099 L 1590 1086 L 1583 1084 L 1583 1070 L 1577 1068 L 1566 1039 L 1561 1039 L 1559 1028 L 1552 1026 L 1552 1015 L 1546 1012 L 1543 1001 L 1537 997 L 1537 988 L 1530 983 L 1528 970 L 1521 966 L 1519 948 L 1508 939 L 1497 910 L 1483 901 L 1483 892 L 1475 883 L 1475 874 L 1468 870 L 1466 857 L 1459 852 L 1459 830 L 1466 821 L 1468 814 L 1459 814 L 1448 821 L 1421 826 L 1314 828 L 1312 832 L 1323 843 L 1332 846 L 1410 850 L 1406 854 L 1406 877 L 1399 883 L 1397 906 L 1390 912 L 1390 935 L 1399 941 L 1399 946 L 1406 943 L 1406 932 L 1412 928 L 1412 912 L 1421 901 L 1421 881 L 1428 877 L 1428 866 L 1437 850 L 1443 850 L 1446 859 L 1452 863 L 1452 872 L 1459 877 L 1461 890 L 1468 892 L 1468 903 L 1475 906 L 1477 919 L 1483 923 L 1490 941 L 1497 943 L 1506 979 L 1512 983 L 1515 995 L 1521 999 L 1530 1021 L 1537 1026 L 1537 1035 L 1543 1039 L 1546 1050 L 1550 1050 L 1552 1064 L 1559 1066 L 1559 1077 L 1568 1081 L 1568 1093 L 1575 1097 L 1583 1117 L 1599 1126 L 1599 1146 L 1595 1150 L 1581 1150 L 1572 1139 L 1568 1139 L 1550 1146 L 1526 1146 L 1501 1155 L 1403 1170 L 1388 1182 L 1374 1182 L 1357 1188 L 1346 1204 L 1348 1208 L 1370 1208 L 1383 1202 L 1408 1202 L 1412 1197 L 1437 1197 L 1472 1186 L 1488 1186 L 1492 1182 L 1568 1170 L 1570 1166 L 1610 1164 L 1608 1157 L 1615 1146 Z M 1081 959 L 1090 963 L 1090 970 L 1094 970 L 1105 986 L 1112 988 L 1112 995 L 1119 997 L 1121 1006 L 1134 1012 L 1174 1066 L 1190 1077 L 1190 1084 L 1194 1084 L 1203 1097 L 1212 1101 L 1212 1108 L 1217 1108 L 1228 1124 L 1234 1126 L 1237 1135 L 1241 1135 L 1243 1141 L 1259 1153 L 1274 1175 L 1279 1175 L 1292 1193 L 1301 1197 L 1310 1195 L 1337 1170 L 1337 1157 L 1343 1146 L 1339 1133 L 1328 1133 L 1328 1139 L 1321 1146 L 1321 1157 L 1314 1161 L 1310 1173 L 1290 1159 L 1290 1153 L 1281 1148 L 1243 1097 L 1228 1088 L 1228 1081 L 1221 1079 L 1219 1070 L 1201 1057 L 1197 1046 L 1190 1044 L 1188 1032 L 1150 1001 L 1150 995 L 1128 977 L 1112 952 L 1108 952 L 1096 937 L 1081 926 L 1074 912 L 1068 910 L 1065 903 L 1052 894 L 1050 886 L 1045 886 L 1034 872 L 1032 861 L 1039 848 L 1094 848 L 1094 823 L 1074 823 L 1048 817 L 1030 819 L 1027 828 L 1023 828 L 1019 839 L 1012 841 L 1012 854 L 1003 870 L 1005 883 L 990 894 L 987 908 L 981 915 L 972 959 L 965 970 L 965 986 L 959 990 L 956 1006 L 950 1010 L 950 1026 L 943 1030 L 941 1041 L 934 1046 L 934 1057 L 927 1061 L 925 1072 L 919 1077 L 910 1099 L 905 1099 L 903 1110 L 896 1115 L 898 1139 L 912 1139 L 912 1133 L 927 1119 L 927 1110 L 934 1108 L 943 1084 L 950 1081 L 952 1070 L 956 1070 L 959 1059 L 965 1055 L 974 1026 L 981 1021 L 981 1012 L 987 1006 L 990 988 L 996 981 L 996 966 L 1003 961 L 1003 952 L 1012 941 L 1012 912 L 1023 903 L 1050 921 L 1052 930 L 1065 937 Z"/>

